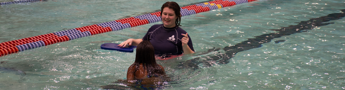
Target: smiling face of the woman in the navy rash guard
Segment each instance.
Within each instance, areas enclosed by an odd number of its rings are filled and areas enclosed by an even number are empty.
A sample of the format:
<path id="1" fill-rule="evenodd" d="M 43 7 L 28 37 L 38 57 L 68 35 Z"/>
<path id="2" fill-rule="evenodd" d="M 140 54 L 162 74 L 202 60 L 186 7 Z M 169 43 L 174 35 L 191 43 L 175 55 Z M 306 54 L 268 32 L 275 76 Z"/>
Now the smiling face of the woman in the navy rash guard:
<path id="1" fill-rule="evenodd" d="M 161 13 L 162 13 L 162 22 L 163 22 L 164 27 L 172 28 L 176 26 L 175 22 L 176 22 L 177 16 L 174 10 L 168 7 L 165 7 L 163 9 L 163 12 Z"/>

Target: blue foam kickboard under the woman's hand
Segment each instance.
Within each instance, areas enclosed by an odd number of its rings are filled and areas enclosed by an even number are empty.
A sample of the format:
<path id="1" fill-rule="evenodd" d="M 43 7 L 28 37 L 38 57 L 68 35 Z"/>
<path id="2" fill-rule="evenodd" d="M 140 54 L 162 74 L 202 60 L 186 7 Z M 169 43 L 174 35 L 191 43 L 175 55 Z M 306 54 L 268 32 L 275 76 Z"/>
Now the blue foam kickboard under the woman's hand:
<path id="1" fill-rule="evenodd" d="M 101 49 L 105 50 L 117 50 L 121 52 L 133 52 L 134 48 L 137 48 L 137 46 L 126 46 L 126 47 L 119 47 L 117 46 L 119 44 L 116 43 L 104 43 L 101 45 Z"/>

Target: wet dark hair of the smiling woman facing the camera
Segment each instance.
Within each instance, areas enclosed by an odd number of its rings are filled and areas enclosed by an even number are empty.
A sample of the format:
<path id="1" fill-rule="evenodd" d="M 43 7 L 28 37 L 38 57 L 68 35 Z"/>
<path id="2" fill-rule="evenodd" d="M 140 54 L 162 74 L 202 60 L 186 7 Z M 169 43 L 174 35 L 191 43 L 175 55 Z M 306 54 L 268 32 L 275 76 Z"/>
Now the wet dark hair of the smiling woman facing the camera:
<path id="1" fill-rule="evenodd" d="M 176 25 L 177 26 L 181 26 L 180 23 L 181 23 L 181 13 L 180 13 L 180 6 L 178 6 L 178 4 L 176 2 L 166 2 L 162 5 L 162 7 L 160 8 L 161 11 L 160 11 L 160 16 L 162 16 L 162 13 L 163 13 L 163 9 L 165 7 L 168 7 L 169 9 L 172 9 L 175 11 L 175 15 L 177 16 L 176 18 Z M 162 19 L 162 17 L 160 17 Z"/>

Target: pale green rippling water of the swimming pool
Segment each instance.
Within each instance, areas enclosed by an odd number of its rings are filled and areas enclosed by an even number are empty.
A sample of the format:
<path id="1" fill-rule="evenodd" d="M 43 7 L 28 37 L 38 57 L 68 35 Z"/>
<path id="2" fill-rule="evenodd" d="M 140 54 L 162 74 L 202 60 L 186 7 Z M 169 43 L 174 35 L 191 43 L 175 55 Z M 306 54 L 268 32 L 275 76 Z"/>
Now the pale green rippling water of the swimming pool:
<path id="1" fill-rule="evenodd" d="M 10 0 L 3 0 L 6 2 Z M 156 12 L 165 1 L 57 0 L 0 7 L 0 42 Z M 176 0 L 180 6 L 204 2 Z M 165 89 L 342 89 L 344 19 L 307 32 L 273 38 L 231 57 L 224 50 L 272 29 L 341 13 L 341 0 L 267 0 L 182 17 L 181 28 L 196 54 L 157 60 L 174 81 Z M 145 7 L 143 7 L 145 6 Z M 297 22 L 297 23 L 296 23 Z M 0 88 L 5 90 L 101 89 L 125 79 L 134 53 L 100 49 L 103 43 L 142 38 L 153 24 L 101 33 L 0 57 Z M 286 40 L 286 41 L 284 41 Z M 276 43 L 277 41 L 278 43 Z M 284 41 L 284 42 L 283 42 Z M 246 42 L 247 43 L 247 42 Z M 254 43 L 254 42 L 252 42 Z M 207 50 L 209 53 L 203 53 Z M 244 46 L 245 47 L 245 46 Z M 227 50 L 227 49 L 226 49 Z M 219 63 L 220 62 L 220 63 Z M 225 64 L 226 63 L 226 64 Z M 197 65 L 197 67 L 196 67 Z"/>

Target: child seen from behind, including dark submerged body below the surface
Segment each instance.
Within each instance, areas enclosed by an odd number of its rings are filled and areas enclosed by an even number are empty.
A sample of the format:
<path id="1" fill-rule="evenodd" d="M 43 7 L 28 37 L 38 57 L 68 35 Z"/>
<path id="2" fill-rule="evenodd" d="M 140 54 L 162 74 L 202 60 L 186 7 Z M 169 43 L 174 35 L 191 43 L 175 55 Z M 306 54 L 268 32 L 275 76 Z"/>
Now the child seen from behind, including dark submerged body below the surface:
<path id="1" fill-rule="evenodd" d="M 118 80 L 114 84 L 101 86 L 103 89 L 155 89 L 166 84 L 170 78 L 164 68 L 157 64 L 155 49 L 150 41 L 142 41 L 137 46 L 134 63 L 128 68 L 127 80 Z M 126 86 L 115 83 L 126 84 Z M 140 86 L 140 87 L 137 87 Z"/>

